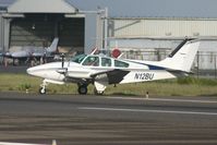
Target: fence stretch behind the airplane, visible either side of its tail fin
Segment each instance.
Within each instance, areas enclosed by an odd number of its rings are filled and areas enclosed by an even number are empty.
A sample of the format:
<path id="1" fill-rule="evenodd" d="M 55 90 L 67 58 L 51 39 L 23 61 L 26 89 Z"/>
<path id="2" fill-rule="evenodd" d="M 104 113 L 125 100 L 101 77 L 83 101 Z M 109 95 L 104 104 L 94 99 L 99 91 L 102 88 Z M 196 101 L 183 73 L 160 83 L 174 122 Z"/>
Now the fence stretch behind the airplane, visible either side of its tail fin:
<path id="1" fill-rule="evenodd" d="M 146 61 L 160 61 L 171 52 L 171 50 L 123 50 L 123 58 L 138 59 Z M 192 65 L 192 72 L 197 77 L 210 77 L 217 78 L 217 52 L 214 51 L 198 51 L 194 63 Z"/>

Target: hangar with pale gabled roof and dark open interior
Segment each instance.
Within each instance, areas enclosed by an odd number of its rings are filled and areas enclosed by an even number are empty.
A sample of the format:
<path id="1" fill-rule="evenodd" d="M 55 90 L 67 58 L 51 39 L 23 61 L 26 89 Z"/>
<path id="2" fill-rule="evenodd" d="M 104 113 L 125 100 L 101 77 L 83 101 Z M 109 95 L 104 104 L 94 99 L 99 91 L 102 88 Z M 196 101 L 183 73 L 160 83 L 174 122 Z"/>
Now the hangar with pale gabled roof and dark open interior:
<path id="1" fill-rule="evenodd" d="M 84 52 L 85 15 L 64 0 L 16 0 L 0 9 L 0 47 L 49 46 Z"/>

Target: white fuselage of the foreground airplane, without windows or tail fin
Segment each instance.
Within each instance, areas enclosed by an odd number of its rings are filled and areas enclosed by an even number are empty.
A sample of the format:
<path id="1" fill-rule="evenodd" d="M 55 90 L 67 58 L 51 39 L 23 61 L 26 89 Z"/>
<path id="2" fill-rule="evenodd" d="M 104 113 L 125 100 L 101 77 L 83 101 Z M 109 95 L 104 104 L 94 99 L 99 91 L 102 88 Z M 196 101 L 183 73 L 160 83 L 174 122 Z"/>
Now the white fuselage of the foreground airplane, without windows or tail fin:
<path id="1" fill-rule="evenodd" d="M 100 60 L 100 57 L 99 57 Z M 136 63 L 129 60 L 123 61 L 129 64 L 128 68 L 121 68 L 114 65 L 114 59 L 111 59 L 110 67 L 99 65 L 83 65 L 82 63 L 75 62 L 64 62 L 63 68 L 61 69 L 62 62 L 51 62 L 38 67 L 34 67 L 27 70 L 27 73 L 38 77 L 43 77 L 49 81 L 56 82 L 65 82 L 65 77 L 72 78 L 92 78 L 94 74 L 100 74 L 101 72 L 108 72 L 111 70 L 122 70 L 128 71 L 129 73 L 123 76 L 123 80 L 119 82 L 123 83 L 133 83 L 133 82 L 146 82 L 155 81 L 162 78 L 172 78 L 176 77 L 172 73 L 167 70 L 150 70 L 148 65 L 144 63 Z M 152 64 L 154 65 L 154 64 Z M 62 73 L 61 70 L 63 71 Z M 65 73 L 64 73 L 64 70 Z M 64 74 L 63 74 L 64 73 Z M 73 82 L 72 82 L 73 83 Z"/>

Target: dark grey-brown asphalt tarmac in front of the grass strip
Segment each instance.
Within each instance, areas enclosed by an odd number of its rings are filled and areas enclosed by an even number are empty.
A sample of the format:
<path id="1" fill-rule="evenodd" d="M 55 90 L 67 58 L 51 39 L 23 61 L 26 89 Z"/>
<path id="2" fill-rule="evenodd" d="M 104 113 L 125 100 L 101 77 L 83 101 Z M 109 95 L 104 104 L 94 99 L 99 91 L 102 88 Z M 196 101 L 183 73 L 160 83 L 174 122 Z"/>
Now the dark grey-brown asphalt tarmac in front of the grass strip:
<path id="1" fill-rule="evenodd" d="M 0 142 L 216 145 L 216 97 L 131 98 L 0 93 Z"/>

